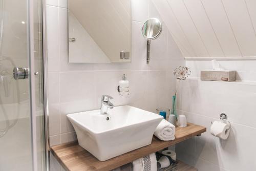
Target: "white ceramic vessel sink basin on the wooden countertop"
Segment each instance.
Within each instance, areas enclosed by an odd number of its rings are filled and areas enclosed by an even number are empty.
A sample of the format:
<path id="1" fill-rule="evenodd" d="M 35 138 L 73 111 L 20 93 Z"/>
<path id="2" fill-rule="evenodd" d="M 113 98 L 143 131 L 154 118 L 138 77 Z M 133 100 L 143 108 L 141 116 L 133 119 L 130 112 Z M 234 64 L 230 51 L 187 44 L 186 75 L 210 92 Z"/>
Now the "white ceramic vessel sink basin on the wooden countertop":
<path id="1" fill-rule="evenodd" d="M 151 144 L 156 127 L 163 119 L 129 105 L 116 106 L 105 115 L 95 110 L 67 116 L 79 145 L 100 161 Z"/>

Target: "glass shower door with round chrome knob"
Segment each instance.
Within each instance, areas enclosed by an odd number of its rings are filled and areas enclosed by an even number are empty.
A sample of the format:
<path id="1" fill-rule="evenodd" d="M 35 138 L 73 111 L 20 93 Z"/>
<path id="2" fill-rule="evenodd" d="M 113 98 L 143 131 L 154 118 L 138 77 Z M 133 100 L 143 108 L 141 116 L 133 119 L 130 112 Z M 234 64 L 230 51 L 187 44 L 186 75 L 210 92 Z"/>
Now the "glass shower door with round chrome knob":
<path id="1" fill-rule="evenodd" d="M 45 170 L 41 1 L 0 0 L 0 22 L 0 170 Z"/>

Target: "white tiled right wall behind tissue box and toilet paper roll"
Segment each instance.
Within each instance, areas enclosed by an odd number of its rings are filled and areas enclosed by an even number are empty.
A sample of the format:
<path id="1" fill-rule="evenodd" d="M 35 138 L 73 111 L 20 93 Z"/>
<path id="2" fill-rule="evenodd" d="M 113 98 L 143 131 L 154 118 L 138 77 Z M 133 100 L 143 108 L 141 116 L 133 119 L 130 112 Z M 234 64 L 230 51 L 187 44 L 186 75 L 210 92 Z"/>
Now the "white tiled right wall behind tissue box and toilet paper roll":
<path id="1" fill-rule="evenodd" d="M 191 77 L 180 84 L 178 113 L 189 122 L 204 125 L 207 133 L 176 145 L 178 158 L 199 171 L 256 170 L 256 61 L 223 60 L 220 64 L 238 71 L 237 82 L 201 81 L 200 70 L 210 61 L 186 61 Z M 210 135 L 210 121 L 228 115 L 231 133 L 227 140 Z"/>

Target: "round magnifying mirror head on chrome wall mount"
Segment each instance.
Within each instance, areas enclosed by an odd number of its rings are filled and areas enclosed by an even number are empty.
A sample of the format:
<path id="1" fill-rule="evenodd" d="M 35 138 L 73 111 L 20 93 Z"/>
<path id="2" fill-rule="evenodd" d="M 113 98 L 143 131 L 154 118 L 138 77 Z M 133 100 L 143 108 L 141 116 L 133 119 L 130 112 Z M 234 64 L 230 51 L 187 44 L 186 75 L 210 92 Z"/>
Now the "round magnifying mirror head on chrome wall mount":
<path id="1" fill-rule="evenodd" d="M 142 27 L 143 36 L 150 40 L 156 39 L 161 32 L 162 24 L 157 18 L 148 19 Z"/>

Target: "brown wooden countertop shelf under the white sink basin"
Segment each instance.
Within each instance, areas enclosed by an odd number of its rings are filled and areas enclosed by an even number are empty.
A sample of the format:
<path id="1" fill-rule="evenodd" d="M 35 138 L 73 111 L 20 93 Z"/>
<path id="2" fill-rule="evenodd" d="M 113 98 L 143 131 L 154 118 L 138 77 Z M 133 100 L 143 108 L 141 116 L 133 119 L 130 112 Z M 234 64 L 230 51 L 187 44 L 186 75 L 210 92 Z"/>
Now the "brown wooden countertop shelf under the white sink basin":
<path id="1" fill-rule="evenodd" d="M 106 161 L 99 161 L 78 145 L 77 142 L 52 146 L 51 152 L 67 171 L 106 171 L 130 163 L 143 156 L 160 151 L 163 148 L 175 145 L 204 132 L 206 132 L 206 127 L 188 123 L 187 127 L 176 128 L 175 140 L 173 141 L 161 141 L 154 136 L 150 145 Z"/>

